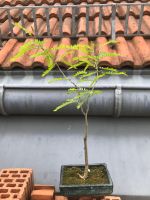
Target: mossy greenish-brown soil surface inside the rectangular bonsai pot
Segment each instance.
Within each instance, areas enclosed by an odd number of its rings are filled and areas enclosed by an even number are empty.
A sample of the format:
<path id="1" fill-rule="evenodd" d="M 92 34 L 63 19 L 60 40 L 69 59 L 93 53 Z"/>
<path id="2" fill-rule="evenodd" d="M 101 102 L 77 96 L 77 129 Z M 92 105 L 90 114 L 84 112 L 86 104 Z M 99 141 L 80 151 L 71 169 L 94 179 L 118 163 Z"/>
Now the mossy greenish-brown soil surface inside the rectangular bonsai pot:
<path id="1" fill-rule="evenodd" d="M 88 178 L 83 180 L 78 174 L 83 175 L 84 167 L 65 167 L 63 174 L 64 185 L 108 184 L 108 176 L 104 166 L 90 166 Z"/>

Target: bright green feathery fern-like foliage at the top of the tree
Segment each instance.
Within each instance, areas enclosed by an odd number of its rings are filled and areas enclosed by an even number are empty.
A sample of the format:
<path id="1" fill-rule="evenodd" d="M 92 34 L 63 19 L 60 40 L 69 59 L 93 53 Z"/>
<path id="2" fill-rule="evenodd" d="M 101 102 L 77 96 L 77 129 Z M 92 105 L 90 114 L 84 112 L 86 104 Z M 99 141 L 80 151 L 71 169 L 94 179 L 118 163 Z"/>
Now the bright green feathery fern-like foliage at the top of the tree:
<path id="1" fill-rule="evenodd" d="M 21 26 L 21 24 L 16 23 L 15 25 L 22 29 L 26 34 L 31 35 L 31 33 L 27 29 Z M 116 41 L 111 40 L 102 45 L 108 44 L 116 44 Z M 37 49 L 38 51 L 30 55 L 30 57 L 44 57 L 45 61 L 47 62 L 48 68 L 44 71 L 42 77 L 51 73 L 54 67 L 57 67 L 61 73 L 61 77 L 51 79 L 49 83 L 67 80 L 73 85 L 73 87 L 69 88 L 67 91 L 68 95 L 72 95 L 73 97 L 66 99 L 66 101 L 57 106 L 54 111 L 56 112 L 70 104 L 75 104 L 76 108 L 80 109 L 89 102 L 89 99 L 92 96 L 101 93 L 101 91 L 95 90 L 95 85 L 101 78 L 107 75 L 126 75 L 124 72 L 118 71 L 115 68 L 104 68 L 99 66 L 99 62 L 102 58 L 120 56 L 119 54 L 114 52 L 99 51 L 100 53 L 96 55 L 95 48 L 95 44 L 91 43 L 90 45 L 58 45 L 46 49 L 44 47 L 43 41 L 33 39 L 29 42 L 24 43 L 20 47 L 19 52 L 12 58 L 12 60 L 16 60 L 17 58 L 31 51 L 32 49 Z M 68 70 L 74 71 L 71 77 L 67 77 L 55 61 L 55 54 L 59 50 L 64 50 L 64 53 L 60 56 L 60 60 L 62 60 L 62 62 L 68 66 Z M 82 56 L 78 56 L 78 53 L 81 53 L 80 55 Z M 71 62 L 66 60 L 66 56 L 69 54 L 74 55 Z M 74 79 L 76 79 L 76 81 L 74 81 Z M 88 82 L 88 86 L 86 88 L 82 88 L 80 86 L 80 83 L 85 81 Z"/>

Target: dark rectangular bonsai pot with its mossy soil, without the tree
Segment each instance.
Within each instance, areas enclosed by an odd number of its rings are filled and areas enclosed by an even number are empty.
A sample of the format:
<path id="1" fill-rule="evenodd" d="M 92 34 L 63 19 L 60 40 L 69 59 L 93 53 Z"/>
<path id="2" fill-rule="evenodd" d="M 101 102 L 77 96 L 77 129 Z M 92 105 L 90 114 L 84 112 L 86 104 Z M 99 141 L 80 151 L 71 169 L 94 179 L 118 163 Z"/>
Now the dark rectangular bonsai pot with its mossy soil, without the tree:
<path id="1" fill-rule="evenodd" d="M 60 174 L 60 194 L 71 196 L 104 196 L 113 192 L 107 165 L 105 163 L 91 164 L 90 173 L 86 180 L 79 177 L 83 175 L 84 165 L 62 165 Z"/>

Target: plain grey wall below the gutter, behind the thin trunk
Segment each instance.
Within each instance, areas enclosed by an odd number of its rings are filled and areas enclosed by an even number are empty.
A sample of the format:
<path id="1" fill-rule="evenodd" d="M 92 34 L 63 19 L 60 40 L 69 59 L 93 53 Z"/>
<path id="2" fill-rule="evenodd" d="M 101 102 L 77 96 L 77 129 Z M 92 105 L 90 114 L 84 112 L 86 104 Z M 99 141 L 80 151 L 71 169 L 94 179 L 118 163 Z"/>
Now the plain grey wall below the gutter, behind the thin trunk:
<path id="1" fill-rule="evenodd" d="M 81 117 L 0 117 L 0 168 L 31 167 L 36 183 L 59 184 L 61 164 L 83 162 Z M 150 196 L 150 119 L 89 120 L 89 160 L 105 162 L 114 193 Z"/>

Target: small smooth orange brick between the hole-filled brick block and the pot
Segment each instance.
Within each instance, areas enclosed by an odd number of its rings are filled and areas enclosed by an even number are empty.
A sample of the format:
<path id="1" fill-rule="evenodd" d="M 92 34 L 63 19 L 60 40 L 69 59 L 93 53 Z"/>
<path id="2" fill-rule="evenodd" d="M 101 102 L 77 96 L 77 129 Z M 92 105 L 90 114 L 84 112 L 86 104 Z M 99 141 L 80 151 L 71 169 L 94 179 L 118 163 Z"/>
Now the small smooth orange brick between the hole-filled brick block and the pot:
<path id="1" fill-rule="evenodd" d="M 53 200 L 53 189 L 33 190 L 31 193 L 31 200 Z"/>

